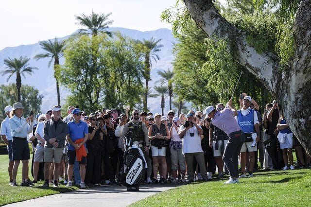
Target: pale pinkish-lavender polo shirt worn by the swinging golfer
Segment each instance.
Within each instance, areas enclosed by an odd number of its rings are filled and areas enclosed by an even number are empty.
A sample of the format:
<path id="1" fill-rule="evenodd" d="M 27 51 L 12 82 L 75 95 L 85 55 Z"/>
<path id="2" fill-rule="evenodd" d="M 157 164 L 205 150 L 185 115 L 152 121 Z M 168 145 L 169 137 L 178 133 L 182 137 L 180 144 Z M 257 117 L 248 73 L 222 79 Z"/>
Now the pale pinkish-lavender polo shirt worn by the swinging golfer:
<path id="1" fill-rule="evenodd" d="M 223 130 L 228 136 L 232 132 L 242 130 L 238 122 L 234 119 L 234 111 L 229 108 L 217 112 L 211 123 Z"/>

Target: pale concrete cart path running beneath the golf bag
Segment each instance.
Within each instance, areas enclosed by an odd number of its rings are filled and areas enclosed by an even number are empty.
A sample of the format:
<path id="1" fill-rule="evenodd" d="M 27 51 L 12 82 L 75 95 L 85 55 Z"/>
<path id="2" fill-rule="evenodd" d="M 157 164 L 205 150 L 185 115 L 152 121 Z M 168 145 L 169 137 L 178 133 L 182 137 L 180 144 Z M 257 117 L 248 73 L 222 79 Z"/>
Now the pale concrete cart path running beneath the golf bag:
<path id="1" fill-rule="evenodd" d="M 103 207 L 129 206 L 155 193 L 172 189 L 178 184 L 142 185 L 139 191 L 126 191 L 126 187 L 99 186 L 44 196 L 6 205 L 7 207 Z"/>

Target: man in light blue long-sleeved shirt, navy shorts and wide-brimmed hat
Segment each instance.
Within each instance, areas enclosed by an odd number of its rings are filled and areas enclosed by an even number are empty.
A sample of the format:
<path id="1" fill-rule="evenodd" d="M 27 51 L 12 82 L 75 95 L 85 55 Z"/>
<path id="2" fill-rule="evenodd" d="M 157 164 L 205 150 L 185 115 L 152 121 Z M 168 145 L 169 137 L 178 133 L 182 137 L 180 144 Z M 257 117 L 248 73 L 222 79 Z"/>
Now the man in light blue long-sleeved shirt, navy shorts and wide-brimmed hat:
<path id="1" fill-rule="evenodd" d="M 34 117 L 30 115 L 26 119 L 23 114 L 23 105 L 21 103 L 13 104 L 14 116 L 10 118 L 9 123 L 13 137 L 12 141 L 12 156 L 14 160 L 13 165 L 13 182 L 12 186 L 17 186 L 16 176 L 20 160 L 23 164 L 21 175 L 22 182 L 20 186 L 30 186 L 28 178 L 28 160 L 30 159 L 30 151 L 28 147 L 27 135 L 33 131 Z M 32 184 L 33 185 L 33 184 Z"/>

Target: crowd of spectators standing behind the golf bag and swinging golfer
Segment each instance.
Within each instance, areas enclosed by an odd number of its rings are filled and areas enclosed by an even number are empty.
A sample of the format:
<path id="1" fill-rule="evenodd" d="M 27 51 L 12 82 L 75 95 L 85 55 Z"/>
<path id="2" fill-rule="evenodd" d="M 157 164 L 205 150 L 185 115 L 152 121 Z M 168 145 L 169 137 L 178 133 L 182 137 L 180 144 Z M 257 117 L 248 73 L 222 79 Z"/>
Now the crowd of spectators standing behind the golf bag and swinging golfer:
<path id="1" fill-rule="evenodd" d="M 190 110 L 179 116 L 172 110 L 166 116 L 137 109 L 128 114 L 129 107 L 125 113 L 103 108 L 87 114 L 71 105 L 64 118 L 61 117 L 64 109 L 59 105 L 44 114 L 31 113 L 26 118 L 23 118 L 21 103 L 6 106 L 7 117 L 1 123 L 0 134 L 8 149 L 10 185 L 18 186 L 20 161 L 20 186 L 33 186 L 39 180 L 45 181 L 43 187 L 75 184 L 82 189 L 89 184 L 121 184 L 124 138 L 129 131 L 142 146 L 148 166 L 145 184 L 223 179 L 229 172 L 234 179 L 225 183 L 235 183 L 238 178 L 253 177 L 259 170 L 311 168 L 310 156 L 294 137 L 276 102 L 266 104 L 262 116 L 259 105 L 245 93 L 241 94 L 239 110 L 232 109 L 229 115 L 226 105 L 219 103 L 215 108 L 207 107 L 205 113 Z M 245 137 L 241 137 L 237 152 L 232 152 L 239 155 L 241 164 L 241 173 L 234 176 L 233 165 L 228 166 L 228 170 L 223 161 L 228 160 L 224 152 L 232 139 L 227 126 L 220 127 L 224 127 L 224 131 L 217 127 L 220 125 L 216 117 L 222 114 L 234 116 L 236 131 L 242 130 Z M 29 141 L 34 151 L 32 181 L 28 175 Z M 295 149 L 297 163 L 294 163 L 292 149 Z M 236 162 L 233 158 L 232 161 Z"/>

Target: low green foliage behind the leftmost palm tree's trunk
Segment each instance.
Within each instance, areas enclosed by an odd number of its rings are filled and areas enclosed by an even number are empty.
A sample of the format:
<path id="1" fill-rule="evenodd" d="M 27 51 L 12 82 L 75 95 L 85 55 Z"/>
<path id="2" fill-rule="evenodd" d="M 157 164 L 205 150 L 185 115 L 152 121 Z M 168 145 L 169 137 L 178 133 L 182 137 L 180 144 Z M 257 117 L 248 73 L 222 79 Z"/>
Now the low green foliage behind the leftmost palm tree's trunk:
<path id="1" fill-rule="evenodd" d="M 4 108 L 7 105 L 13 106 L 14 103 L 17 102 L 17 88 L 15 84 L 10 84 L 8 86 L 1 85 L 0 86 L 0 94 L 3 99 L 0 99 L 0 108 L 2 118 L 5 117 Z M 42 103 L 42 95 L 39 95 L 39 90 L 35 89 L 33 86 L 23 85 L 20 88 L 20 102 L 24 106 L 24 115 L 28 116 L 30 111 L 34 111 L 34 113 L 40 112 L 40 106 Z"/>

